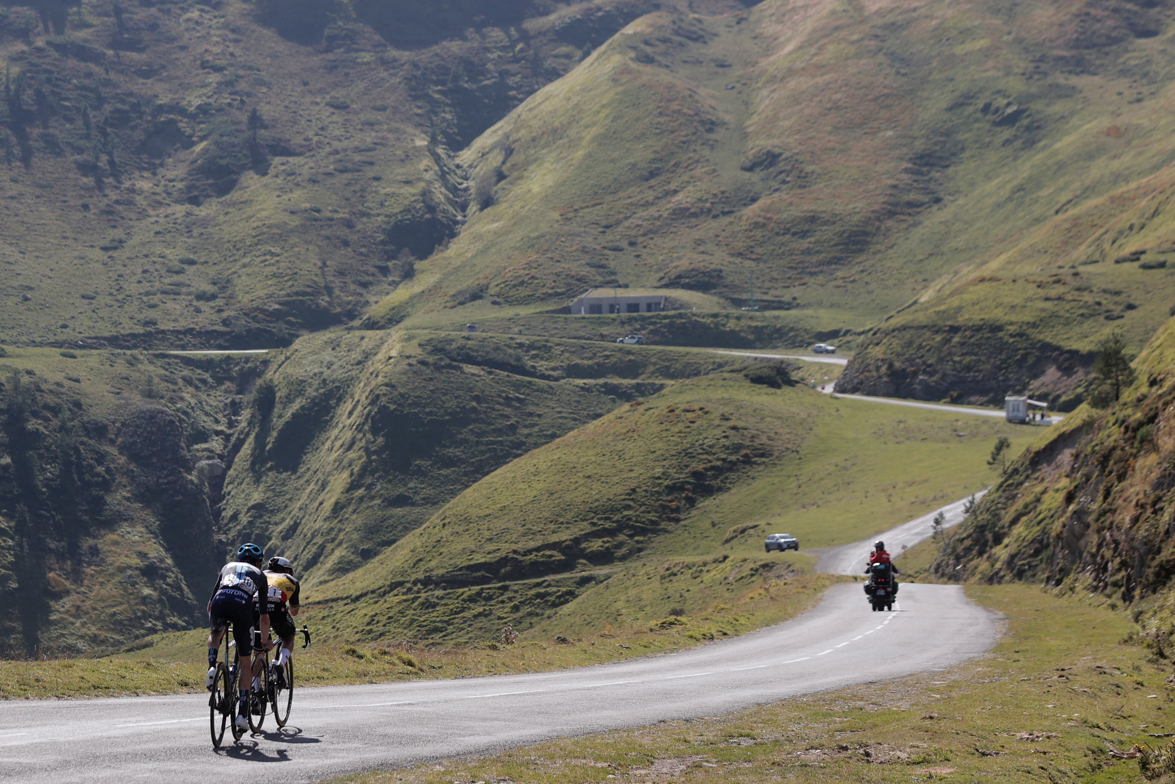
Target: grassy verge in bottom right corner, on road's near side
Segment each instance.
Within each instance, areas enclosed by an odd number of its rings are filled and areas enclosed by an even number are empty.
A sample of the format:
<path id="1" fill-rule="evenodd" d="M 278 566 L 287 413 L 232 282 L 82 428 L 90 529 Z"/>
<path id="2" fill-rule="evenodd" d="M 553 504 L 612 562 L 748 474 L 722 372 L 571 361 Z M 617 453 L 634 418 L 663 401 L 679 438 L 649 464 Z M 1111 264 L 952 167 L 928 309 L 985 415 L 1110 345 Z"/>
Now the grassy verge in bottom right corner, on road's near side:
<path id="1" fill-rule="evenodd" d="M 1169 664 L 1123 642 L 1119 612 L 1026 585 L 975 587 L 1003 639 L 947 672 L 844 689 L 719 718 L 569 738 L 337 784 L 582 782 L 1141 780 L 1115 757 L 1167 743 Z"/>

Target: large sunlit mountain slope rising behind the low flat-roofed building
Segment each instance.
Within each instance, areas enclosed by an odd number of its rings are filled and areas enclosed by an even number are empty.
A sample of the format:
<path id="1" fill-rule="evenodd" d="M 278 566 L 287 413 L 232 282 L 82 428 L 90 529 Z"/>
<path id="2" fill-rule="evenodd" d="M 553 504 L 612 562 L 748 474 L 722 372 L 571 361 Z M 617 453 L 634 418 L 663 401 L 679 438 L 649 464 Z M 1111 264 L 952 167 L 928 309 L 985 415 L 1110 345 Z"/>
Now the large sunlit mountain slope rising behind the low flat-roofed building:
<path id="1" fill-rule="evenodd" d="M 1114 234 L 1124 213 L 1103 202 L 1123 182 L 1150 188 L 1170 160 L 1168 15 L 1069 0 L 772 0 L 644 16 L 461 154 L 479 194 L 462 235 L 369 322 L 442 304 L 485 317 L 469 292 L 504 309 L 589 286 L 743 304 L 752 280 L 761 307 L 852 322 L 1013 248 L 1041 266 L 1052 252 L 1028 247 L 1041 226 L 1083 215 L 1087 236 Z M 1115 292 L 1090 302 L 1096 316 L 1126 314 L 1140 334 L 1169 307 L 1152 279 L 1093 286 Z M 1033 329 L 1048 335 L 1034 340 L 1059 340 L 1072 311 L 1038 310 Z M 1016 315 L 999 300 L 960 322 Z M 1033 371 L 995 343 L 1009 373 Z M 886 359 L 916 364 L 919 348 Z"/>

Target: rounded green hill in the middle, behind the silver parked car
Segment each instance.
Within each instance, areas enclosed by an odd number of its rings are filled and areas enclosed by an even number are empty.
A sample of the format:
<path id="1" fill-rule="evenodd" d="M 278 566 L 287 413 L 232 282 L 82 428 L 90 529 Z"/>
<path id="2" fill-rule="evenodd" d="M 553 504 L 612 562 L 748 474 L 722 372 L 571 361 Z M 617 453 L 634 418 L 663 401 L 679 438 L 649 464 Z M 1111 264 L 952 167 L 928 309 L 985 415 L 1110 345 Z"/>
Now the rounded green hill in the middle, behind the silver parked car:
<path id="1" fill-rule="evenodd" d="M 680 382 L 512 461 L 318 585 L 316 614 L 361 639 L 459 639 L 703 611 L 793 568 L 766 534 L 868 536 L 981 489 L 995 436 L 1026 437 L 750 380 L 766 370 Z"/>

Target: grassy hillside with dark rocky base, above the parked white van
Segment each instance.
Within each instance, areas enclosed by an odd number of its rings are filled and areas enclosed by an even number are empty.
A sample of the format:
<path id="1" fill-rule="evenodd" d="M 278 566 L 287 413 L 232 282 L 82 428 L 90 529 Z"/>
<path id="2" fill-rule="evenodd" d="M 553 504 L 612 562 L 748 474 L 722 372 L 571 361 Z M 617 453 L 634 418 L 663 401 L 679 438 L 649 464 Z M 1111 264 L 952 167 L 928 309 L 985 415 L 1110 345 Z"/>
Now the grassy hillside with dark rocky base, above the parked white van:
<path id="1" fill-rule="evenodd" d="M 1149 125 L 1149 123 L 1148 123 Z M 1137 133 L 1137 129 L 1134 129 Z M 1109 330 L 1142 347 L 1175 307 L 1175 169 L 1079 209 L 935 286 L 864 342 L 840 389 L 1072 410 Z"/>

